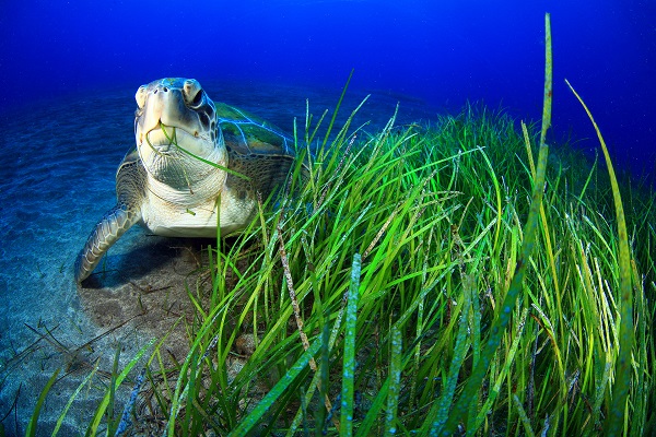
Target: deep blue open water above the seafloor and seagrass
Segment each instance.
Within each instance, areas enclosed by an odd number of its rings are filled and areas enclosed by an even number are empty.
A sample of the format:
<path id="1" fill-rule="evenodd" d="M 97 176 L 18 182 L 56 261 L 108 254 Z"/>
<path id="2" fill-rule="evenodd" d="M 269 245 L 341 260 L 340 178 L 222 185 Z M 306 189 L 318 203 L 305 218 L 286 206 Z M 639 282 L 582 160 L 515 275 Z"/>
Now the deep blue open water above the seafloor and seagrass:
<path id="1" fill-rule="evenodd" d="M 406 97 L 440 111 L 483 101 L 538 119 L 544 12 L 553 29 L 552 140 L 573 135 L 588 139 L 577 144 L 586 151 L 598 147 L 566 78 L 617 163 L 654 173 L 654 1 L 4 1 L 0 122 L 16 106 L 136 91 L 172 75 L 303 84 L 337 99 L 351 69 L 355 94 L 387 93 L 401 107 Z"/>

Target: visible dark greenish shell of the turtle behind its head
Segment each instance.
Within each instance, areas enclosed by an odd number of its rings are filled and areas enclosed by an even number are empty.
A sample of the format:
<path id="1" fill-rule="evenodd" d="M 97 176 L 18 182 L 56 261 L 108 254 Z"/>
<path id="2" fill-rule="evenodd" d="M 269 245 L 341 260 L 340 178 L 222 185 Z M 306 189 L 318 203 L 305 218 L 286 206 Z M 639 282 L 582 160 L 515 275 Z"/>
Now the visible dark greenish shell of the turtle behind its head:
<path id="1" fill-rule="evenodd" d="M 224 103 L 214 103 L 214 106 L 229 153 L 244 157 L 295 155 L 294 141 L 274 125 Z"/>

